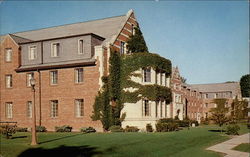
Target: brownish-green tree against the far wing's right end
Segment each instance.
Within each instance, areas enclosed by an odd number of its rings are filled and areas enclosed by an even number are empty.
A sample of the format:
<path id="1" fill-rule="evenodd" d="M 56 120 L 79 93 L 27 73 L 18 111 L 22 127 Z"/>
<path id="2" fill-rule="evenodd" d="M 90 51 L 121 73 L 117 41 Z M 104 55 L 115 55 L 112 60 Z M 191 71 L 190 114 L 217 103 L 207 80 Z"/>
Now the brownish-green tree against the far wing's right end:
<path id="1" fill-rule="evenodd" d="M 235 120 L 241 120 L 247 117 L 247 101 L 246 100 L 238 100 L 236 97 L 231 105 L 232 111 L 231 111 L 231 116 Z"/>

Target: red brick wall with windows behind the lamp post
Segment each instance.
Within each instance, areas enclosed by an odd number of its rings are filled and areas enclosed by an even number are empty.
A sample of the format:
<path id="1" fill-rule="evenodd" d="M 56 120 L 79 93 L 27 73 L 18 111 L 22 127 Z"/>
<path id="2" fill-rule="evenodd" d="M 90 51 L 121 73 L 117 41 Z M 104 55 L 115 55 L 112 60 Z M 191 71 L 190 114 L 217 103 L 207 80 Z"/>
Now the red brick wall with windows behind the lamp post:
<path id="1" fill-rule="evenodd" d="M 5 63 L 5 48 L 13 48 L 13 57 L 11 63 Z M 26 73 L 16 73 L 15 69 L 19 66 L 18 46 L 7 38 L 1 45 L 0 53 L 1 64 L 1 121 L 17 121 L 20 127 L 30 127 L 31 118 L 27 117 L 27 101 L 32 101 L 31 88 L 26 86 Z M 39 102 L 41 101 L 41 125 L 48 130 L 54 130 L 55 126 L 70 125 L 74 130 L 81 127 L 92 126 L 99 131 L 102 125 L 99 121 L 92 121 L 90 116 L 93 111 L 95 96 L 99 90 L 99 63 L 96 66 L 87 66 L 84 68 L 84 81 L 81 84 L 74 82 L 74 68 L 58 69 L 58 85 L 51 86 L 49 79 L 49 70 L 41 71 L 41 100 L 39 87 L 39 72 L 34 72 L 36 79 L 36 113 L 37 125 L 39 125 Z M 5 88 L 5 75 L 12 74 L 13 88 Z M 75 99 L 84 99 L 84 116 L 75 117 Z M 58 100 L 58 117 L 50 117 L 50 100 Z M 13 118 L 5 118 L 5 103 L 13 103 Z"/>

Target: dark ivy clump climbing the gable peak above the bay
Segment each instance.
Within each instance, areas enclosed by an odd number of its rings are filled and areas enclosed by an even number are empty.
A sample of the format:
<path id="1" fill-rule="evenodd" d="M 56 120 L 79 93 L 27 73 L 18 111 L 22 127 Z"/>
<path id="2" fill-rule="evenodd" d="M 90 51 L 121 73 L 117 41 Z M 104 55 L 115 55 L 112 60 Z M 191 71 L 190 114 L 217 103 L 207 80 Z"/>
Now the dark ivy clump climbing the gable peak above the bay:
<path id="1" fill-rule="evenodd" d="M 148 47 L 139 27 L 135 27 L 135 34 L 127 41 L 128 51 L 131 53 L 148 52 Z"/>

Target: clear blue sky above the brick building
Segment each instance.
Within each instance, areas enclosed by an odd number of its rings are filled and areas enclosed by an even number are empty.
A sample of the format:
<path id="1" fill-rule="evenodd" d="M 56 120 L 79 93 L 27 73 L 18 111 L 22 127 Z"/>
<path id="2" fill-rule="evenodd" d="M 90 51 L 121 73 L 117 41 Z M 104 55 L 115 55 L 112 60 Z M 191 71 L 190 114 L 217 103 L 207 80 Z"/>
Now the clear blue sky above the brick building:
<path id="1" fill-rule="evenodd" d="M 133 9 L 150 52 L 188 83 L 239 81 L 249 73 L 247 1 L 3 1 L 0 34 L 126 14 Z"/>

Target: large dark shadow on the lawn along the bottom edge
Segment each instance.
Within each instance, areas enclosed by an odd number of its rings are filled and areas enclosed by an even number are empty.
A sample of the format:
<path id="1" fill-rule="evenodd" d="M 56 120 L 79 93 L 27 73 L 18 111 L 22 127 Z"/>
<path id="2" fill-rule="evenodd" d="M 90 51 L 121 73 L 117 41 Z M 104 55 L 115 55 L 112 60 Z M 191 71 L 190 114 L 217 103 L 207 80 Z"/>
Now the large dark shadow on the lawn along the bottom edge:
<path id="1" fill-rule="evenodd" d="M 93 157 L 102 152 L 96 150 L 97 147 L 84 146 L 64 146 L 61 145 L 57 148 L 44 149 L 44 148 L 31 148 L 25 150 L 18 157 Z"/>

